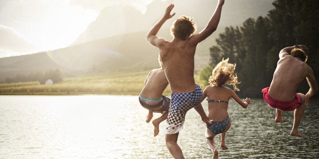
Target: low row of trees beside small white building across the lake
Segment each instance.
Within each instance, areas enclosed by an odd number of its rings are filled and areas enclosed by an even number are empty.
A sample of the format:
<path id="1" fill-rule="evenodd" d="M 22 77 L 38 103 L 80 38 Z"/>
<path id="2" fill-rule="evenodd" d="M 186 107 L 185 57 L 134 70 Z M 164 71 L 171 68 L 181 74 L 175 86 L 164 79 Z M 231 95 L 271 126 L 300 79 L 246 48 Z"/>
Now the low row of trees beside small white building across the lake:
<path id="1" fill-rule="evenodd" d="M 18 83 L 18 82 L 31 82 L 38 81 L 40 84 L 45 84 L 45 82 L 51 79 L 53 83 L 59 83 L 62 81 L 62 77 L 59 69 L 49 69 L 45 72 L 37 71 L 28 74 L 17 74 L 15 77 L 7 77 L 4 83 Z"/>

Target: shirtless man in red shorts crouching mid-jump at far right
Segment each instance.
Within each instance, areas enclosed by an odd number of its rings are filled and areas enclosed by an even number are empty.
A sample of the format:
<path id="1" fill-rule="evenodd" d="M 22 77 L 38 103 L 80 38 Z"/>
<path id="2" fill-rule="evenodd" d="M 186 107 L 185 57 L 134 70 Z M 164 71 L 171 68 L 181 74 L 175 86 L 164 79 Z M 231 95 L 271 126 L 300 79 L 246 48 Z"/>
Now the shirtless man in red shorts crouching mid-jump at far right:
<path id="1" fill-rule="evenodd" d="M 295 110 L 294 126 L 290 135 L 301 137 L 298 127 L 309 98 L 317 91 L 312 69 L 305 63 L 308 50 L 304 45 L 283 48 L 279 53 L 277 68 L 270 87 L 262 90 L 265 102 L 276 109 L 275 122 L 282 123 L 282 111 Z M 296 93 L 299 85 L 307 79 L 310 87 L 306 95 Z"/>

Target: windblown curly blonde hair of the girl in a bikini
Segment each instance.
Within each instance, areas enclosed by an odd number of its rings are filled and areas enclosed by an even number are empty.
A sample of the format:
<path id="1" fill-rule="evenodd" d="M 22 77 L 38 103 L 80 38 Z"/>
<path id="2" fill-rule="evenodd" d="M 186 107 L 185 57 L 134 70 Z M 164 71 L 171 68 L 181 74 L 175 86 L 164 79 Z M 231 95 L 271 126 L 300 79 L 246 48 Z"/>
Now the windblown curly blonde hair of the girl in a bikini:
<path id="1" fill-rule="evenodd" d="M 237 74 L 234 73 L 236 63 L 228 63 L 229 58 L 222 60 L 216 65 L 212 71 L 212 75 L 208 78 L 210 86 L 222 86 L 224 84 L 233 85 L 235 91 L 239 91 L 237 84 L 240 84 L 237 79 Z"/>

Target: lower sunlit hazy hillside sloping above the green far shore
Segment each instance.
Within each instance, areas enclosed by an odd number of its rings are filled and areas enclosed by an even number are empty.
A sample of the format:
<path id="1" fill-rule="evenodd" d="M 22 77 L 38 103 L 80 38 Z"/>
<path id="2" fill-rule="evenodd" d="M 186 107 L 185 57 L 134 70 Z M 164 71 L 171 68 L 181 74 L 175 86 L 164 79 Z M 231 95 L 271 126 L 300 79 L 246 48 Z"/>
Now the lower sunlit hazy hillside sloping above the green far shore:
<path id="1" fill-rule="evenodd" d="M 166 30 L 167 37 L 169 30 Z M 59 69 L 62 76 L 132 72 L 159 67 L 158 49 L 146 41 L 146 31 L 126 33 L 37 54 L 0 58 L 0 82 L 6 77 L 48 69 Z M 212 37 L 210 37 L 212 38 Z M 209 62 L 211 44 L 198 46 L 196 69 Z M 201 50 L 206 50 L 201 53 Z"/>

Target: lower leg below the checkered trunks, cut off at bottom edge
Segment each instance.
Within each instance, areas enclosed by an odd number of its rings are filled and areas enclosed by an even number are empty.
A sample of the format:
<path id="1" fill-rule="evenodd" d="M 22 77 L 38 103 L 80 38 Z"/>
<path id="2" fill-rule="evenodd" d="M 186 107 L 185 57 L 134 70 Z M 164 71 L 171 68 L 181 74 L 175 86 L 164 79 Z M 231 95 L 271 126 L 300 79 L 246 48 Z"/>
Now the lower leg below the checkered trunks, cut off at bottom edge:
<path id="1" fill-rule="evenodd" d="M 178 138 L 178 133 L 176 134 L 166 134 L 165 135 L 165 142 L 166 142 L 166 147 L 172 154 L 174 158 L 184 158 L 183 152 L 181 148 L 177 144 L 177 138 Z"/>

